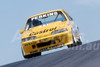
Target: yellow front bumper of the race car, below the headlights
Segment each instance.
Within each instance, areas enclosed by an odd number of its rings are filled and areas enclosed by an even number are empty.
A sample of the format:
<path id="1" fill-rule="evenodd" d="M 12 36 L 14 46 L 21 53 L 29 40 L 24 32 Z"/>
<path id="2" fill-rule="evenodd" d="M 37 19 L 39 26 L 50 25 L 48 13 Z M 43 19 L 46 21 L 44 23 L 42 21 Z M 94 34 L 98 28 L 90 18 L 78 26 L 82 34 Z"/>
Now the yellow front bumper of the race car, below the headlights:
<path id="1" fill-rule="evenodd" d="M 22 48 L 24 55 L 30 55 L 50 49 L 63 47 L 72 43 L 72 34 L 70 32 L 63 32 L 27 42 L 22 42 Z"/>

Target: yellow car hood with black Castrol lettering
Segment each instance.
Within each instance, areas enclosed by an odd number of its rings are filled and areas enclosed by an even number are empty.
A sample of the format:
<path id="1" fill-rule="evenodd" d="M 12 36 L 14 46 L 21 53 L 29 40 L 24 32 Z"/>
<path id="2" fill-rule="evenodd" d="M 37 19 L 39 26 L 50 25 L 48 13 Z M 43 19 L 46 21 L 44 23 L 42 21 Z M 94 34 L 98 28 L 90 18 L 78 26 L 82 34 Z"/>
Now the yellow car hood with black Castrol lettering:
<path id="1" fill-rule="evenodd" d="M 57 21 L 49 24 L 43 24 L 30 28 L 28 31 L 25 31 L 22 35 L 22 38 L 36 36 L 38 38 L 49 36 L 55 30 L 63 29 L 67 26 L 65 21 Z"/>

